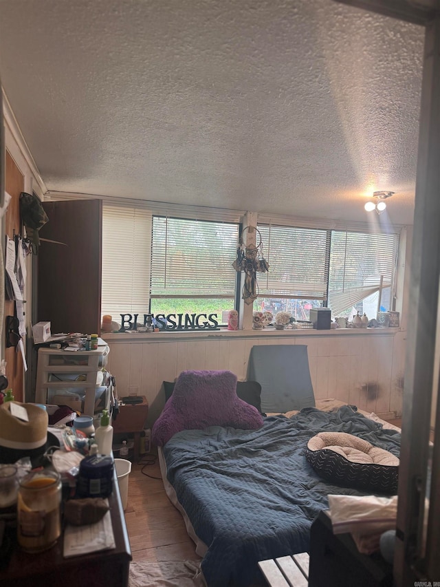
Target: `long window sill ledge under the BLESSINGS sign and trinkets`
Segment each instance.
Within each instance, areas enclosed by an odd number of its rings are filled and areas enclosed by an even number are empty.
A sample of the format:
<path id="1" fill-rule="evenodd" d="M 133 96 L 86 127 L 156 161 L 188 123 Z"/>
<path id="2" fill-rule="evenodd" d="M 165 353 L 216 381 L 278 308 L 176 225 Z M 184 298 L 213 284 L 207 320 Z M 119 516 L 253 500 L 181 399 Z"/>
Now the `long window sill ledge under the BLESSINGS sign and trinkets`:
<path id="1" fill-rule="evenodd" d="M 262 337 L 296 338 L 296 337 L 359 337 L 359 336 L 390 336 L 401 332 L 401 328 L 336 328 L 335 330 L 315 330 L 303 328 L 300 330 L 276 330 L 264 328 L 263 330 L 169 330 L 167 332 L 115 332 L 107 334 L 102 332 L 101 337 L 109 343 L 133 343 L 133 342 L 164 342 L 182 340 L 206 340 L 206 339 L 252 339 Z"/>

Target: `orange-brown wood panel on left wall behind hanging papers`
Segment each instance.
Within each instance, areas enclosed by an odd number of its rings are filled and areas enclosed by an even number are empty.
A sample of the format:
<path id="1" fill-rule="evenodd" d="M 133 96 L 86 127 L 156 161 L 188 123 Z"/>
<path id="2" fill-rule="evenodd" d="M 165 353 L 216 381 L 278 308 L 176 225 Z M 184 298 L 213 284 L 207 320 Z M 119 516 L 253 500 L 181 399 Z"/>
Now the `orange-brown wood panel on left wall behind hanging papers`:
<path id="1" fill-rule="evenodd" d="M 6 151 L 5 170 L 5 189 L 12 197 L 5 213 L 5 234 L 13 238 L 14 234 L 20 233 L 20 194 L 25 189 L 25 181 L 23 173 L 21 173 L 8 151 Z M 4 247 L 5 242 L 3 242 L 3 250 Z M 6 316 L 14 315 L 14 301 L 5 300 L 4 309 L 3 346 L 5 348 L 6 376 L 8 377 L 9 387 L 12 387 L 14 392 L 14 398 L 17 401 L 24 401 L 24 375 L 21 353 L 17 352 L 14 347 L 6 348 L 5 345 L 5 336 L 7 334 L 5 329 Z M 26 346 L 25 341 L 23 341 L 23 345 L 24 347 Z"/>

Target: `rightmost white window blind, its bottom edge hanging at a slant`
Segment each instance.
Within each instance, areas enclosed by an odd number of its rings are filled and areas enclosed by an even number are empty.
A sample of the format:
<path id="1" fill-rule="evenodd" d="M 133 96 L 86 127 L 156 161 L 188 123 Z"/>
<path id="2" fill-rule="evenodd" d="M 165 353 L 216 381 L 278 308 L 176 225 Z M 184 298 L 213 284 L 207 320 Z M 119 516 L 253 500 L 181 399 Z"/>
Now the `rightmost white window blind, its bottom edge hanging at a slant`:
<path id="1" fill-rule="evenodd" d="M 399 236 L 332 231 L 329 306 L 333 315 L 382 288 L 393 288 Z"/>

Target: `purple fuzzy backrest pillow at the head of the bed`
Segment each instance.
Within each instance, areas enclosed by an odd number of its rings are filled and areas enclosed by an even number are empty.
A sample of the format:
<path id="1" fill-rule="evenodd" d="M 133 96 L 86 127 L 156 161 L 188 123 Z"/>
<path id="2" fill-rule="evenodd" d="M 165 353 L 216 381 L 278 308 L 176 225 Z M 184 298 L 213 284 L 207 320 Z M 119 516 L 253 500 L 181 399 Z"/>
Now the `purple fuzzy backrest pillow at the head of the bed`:
<path id="1" fill-rule="evenodd" d="M 181 430 L 208 426 L 256 429 L 263 418 L 253 405 L 236 394 L 236 376 L 230 371 L 183 371 L 173 395 L 153 425 L 151 439 L 162 447 Z"/>

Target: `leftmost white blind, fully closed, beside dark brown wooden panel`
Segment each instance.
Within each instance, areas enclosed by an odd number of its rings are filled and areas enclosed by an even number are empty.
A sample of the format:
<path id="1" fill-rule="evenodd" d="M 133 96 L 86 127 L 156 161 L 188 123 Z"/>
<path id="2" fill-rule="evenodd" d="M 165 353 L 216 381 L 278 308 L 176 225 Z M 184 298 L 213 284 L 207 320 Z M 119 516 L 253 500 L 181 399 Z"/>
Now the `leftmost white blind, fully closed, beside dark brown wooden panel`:
<path id="1" fill-rule="evenodd" d="M 102 314 L 148 313 L 151 212 L 102 206 Z"/>

